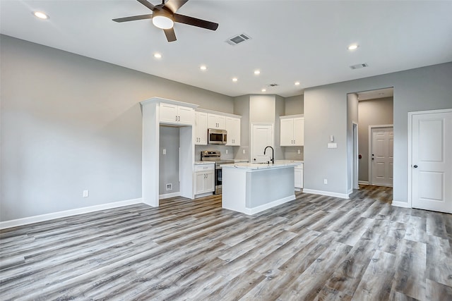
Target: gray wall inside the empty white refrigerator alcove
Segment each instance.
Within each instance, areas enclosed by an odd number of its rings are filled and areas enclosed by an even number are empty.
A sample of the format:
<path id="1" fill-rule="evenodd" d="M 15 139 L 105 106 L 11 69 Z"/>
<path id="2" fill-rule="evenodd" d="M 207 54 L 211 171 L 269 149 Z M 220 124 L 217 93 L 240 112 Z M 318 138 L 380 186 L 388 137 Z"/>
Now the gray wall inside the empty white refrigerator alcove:
<path id="1" fill-rule="evenodd" d="M 179 128 L 160 125 L 159 137 L 159 195 L 179 192 Z M 166 189 L 167 183 L 172 184 L 172 190 Z"/>

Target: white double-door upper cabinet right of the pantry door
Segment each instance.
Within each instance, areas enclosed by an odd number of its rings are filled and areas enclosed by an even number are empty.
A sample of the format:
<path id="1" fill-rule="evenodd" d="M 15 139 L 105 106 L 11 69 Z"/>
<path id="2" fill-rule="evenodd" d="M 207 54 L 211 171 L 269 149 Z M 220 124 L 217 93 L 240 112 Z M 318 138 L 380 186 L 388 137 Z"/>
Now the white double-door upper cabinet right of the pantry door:
<path id="1" fill-rule="evenodd" d="M 304 145 L 304 118 L 280 116 L 280 146 Z"/>

